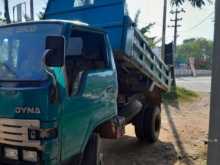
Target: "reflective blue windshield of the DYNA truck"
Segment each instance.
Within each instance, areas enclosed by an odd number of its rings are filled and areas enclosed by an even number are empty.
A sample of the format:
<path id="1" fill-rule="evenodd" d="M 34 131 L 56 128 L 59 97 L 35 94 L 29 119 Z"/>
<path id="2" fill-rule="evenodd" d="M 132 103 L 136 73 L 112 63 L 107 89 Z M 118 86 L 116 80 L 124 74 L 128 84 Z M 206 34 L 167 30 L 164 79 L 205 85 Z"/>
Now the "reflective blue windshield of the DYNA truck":
<path id="1" fill-rule="evenodd" d="M 0 28 L 0 81 L 47 79 L 42 66 L 47 36 L 60 35 L 59 24 L 31 24 Z"/>

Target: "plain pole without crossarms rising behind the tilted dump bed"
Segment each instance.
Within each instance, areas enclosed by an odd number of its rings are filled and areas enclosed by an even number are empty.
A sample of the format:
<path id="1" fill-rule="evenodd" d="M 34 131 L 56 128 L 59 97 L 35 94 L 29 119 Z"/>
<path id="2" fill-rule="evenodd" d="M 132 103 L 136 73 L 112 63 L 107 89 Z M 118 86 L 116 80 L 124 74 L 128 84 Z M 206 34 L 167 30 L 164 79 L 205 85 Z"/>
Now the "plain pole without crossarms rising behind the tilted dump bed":
<path id="1" fill-rule="evenodd" d="M 167 27 L 167 0 L 164 0 L 164 7 L 163 7 L 163 29 L 162 29 L 162 46 L 161 46 L 161 58 L 162 58 L 162 60 L 165 59 L 166 27 Z"/>

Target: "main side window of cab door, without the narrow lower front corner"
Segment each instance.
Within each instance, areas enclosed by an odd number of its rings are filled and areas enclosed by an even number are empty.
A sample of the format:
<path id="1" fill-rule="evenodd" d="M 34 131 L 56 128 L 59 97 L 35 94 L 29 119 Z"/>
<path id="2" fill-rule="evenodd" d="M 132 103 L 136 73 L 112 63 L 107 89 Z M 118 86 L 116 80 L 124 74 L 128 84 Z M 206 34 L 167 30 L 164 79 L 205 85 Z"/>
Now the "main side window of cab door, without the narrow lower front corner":
<path id="1" fill-rule="evenodd" d="M 66 61 L 84 70 L 105 69 L 107 50 L 103 34 L 73 30 L 68 40 Z M 69 62 L 68 62 L 69 61 Z M 80 65 L 82 64 L 83 65 Z"/>

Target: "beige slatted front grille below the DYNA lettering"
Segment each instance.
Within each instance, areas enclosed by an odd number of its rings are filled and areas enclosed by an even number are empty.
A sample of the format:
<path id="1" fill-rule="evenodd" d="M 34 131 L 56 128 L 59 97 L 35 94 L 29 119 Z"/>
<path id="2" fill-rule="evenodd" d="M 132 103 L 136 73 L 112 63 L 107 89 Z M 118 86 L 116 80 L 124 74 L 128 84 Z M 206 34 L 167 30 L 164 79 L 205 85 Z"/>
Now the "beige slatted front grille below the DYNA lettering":
<path id="1" fill-rule="evenodd" d="M 0 143 L 41 149 L 40 141 L 29 140 L 28 129 L 40 128 L 38 120 L 0 119 Z"/>

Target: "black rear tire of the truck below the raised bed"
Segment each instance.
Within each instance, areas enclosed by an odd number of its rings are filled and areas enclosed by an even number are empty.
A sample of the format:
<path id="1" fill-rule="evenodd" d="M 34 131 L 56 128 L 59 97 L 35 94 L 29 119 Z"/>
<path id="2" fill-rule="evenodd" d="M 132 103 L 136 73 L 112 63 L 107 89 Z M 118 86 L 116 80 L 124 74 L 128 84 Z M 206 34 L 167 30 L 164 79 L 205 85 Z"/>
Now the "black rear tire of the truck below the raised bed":
<path id="1" fill-rule="evenodd" d="M 155 143 L 159 139 L 161 128 L 161 109 L 148 107 L 142 111 L 134 122 L 136 137 L 141 142 Z"/>

